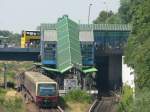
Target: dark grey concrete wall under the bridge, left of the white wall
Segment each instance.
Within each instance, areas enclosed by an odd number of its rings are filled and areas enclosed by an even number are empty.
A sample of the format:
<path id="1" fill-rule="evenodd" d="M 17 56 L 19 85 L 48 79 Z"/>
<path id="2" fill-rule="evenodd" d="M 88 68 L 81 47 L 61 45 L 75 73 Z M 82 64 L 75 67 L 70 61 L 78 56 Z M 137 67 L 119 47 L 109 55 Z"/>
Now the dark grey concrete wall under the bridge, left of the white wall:
<path id="1" fill-rule="evenodd" d="M 119 89 L 122 86 L 122 56 L 110 55 L 108 66 L 109 88 Z"/>

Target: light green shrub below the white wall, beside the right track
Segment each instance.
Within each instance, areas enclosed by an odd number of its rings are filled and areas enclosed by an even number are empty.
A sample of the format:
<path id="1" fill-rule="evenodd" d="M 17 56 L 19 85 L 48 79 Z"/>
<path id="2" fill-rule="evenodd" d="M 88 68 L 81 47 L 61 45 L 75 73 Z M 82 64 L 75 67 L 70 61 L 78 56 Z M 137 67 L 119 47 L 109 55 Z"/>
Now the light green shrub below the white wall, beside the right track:
<path id="1" fill-rule="evenodd" d="M 122 90 L 122 99 L 119 102 L 118 112 L 132 112 L 133 107 L 133 89 L 125 85 Z"/>

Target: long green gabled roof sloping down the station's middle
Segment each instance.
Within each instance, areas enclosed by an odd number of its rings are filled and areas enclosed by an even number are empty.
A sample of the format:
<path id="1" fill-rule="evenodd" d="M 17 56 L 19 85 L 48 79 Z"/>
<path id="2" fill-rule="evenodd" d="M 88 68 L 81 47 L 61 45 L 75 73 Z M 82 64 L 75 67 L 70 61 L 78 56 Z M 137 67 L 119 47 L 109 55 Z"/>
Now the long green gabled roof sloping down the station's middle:
<path id="1" fill-rule="evenodd" d="M 65 72 L 72 67 L 81 69 L 82 57 L 79 42 L 79 26 L 67 16 L 58 20 L 57 68 Z M 67 69 L 68 68 L 68 69 Z"/>

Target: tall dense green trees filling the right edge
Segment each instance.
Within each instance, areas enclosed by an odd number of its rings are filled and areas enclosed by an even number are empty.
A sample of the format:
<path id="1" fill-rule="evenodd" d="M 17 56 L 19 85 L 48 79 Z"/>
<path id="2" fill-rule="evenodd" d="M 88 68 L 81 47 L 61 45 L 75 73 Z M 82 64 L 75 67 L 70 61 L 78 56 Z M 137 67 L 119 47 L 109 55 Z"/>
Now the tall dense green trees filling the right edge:
<path id="1" fill-rule="evenodd" d="M 150 110 L 150 0 L 132 0 L 133 31 L 128 39 L 125 62 L 135 70 L 135 112 Z"/>

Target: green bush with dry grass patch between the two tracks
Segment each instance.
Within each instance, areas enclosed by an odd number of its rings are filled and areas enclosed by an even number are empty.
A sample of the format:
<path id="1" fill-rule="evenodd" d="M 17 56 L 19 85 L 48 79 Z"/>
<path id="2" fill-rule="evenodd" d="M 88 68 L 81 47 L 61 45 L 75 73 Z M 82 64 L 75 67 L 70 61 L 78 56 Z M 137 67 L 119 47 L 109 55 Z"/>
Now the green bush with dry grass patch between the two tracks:
<path id="1" fill-rule="evenodd" d="M 92 103 L 90 94 L 80 89 L 71 90 L 60 99 L 66 112 L 86 112 Z"/>

